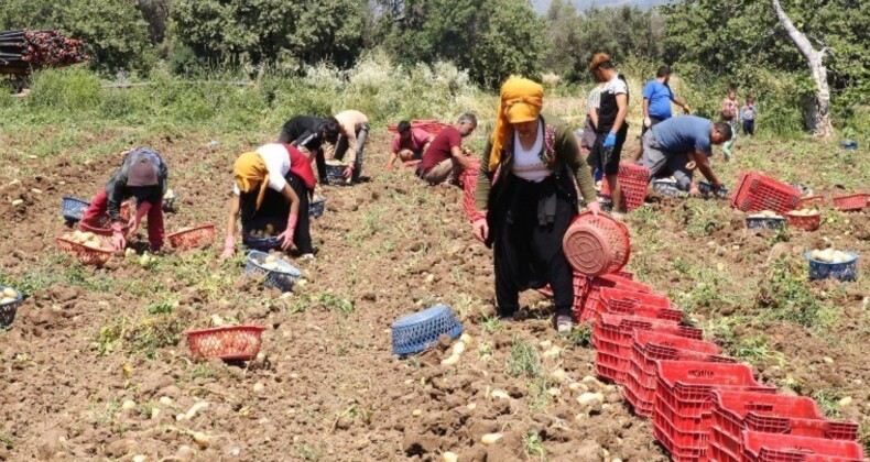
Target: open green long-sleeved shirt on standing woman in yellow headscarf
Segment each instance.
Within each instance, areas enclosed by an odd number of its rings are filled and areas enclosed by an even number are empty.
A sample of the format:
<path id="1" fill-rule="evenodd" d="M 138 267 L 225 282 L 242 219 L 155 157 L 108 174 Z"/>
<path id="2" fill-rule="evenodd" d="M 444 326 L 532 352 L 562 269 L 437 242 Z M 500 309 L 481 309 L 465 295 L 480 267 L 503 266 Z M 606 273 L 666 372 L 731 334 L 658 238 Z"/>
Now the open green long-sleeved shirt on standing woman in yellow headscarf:
<path id="1" fill-rule="evenodd" d="M 551 172 L 556 174 L 557 172 L 555 172 L 555 168 L 559 165 L 565 165 L 567 170 L 574 175 L 576 185 L 578 186 L 579 193 L 583 196 L 584 204 L 596 200 L 595 180 L 592 179 L 592 175 L 589 172 L 589 167 L 586 166 L 583 157 L 580 157 L 580 148 L 577 145 L 577 139 L 574 136 L 574 132 L 570 130 L 570 127 L 554 116 L 541 114 L 541 119 L 544 122 L 545 132 L 547 129 L 554 132 L 552 150 L 553 154 L 555 155 L 555 162 L 547 164 Z M 550 147 L 547 146 L 548 143 L 546 142 L 546 134 L 544 136 L 545 143 L 543 150 L 546 151 Z M 492 138 L 490 136 L 487 147 L 483 150 L 483 153 L 480 156 L 480 172 L 478 174 L 477 189 L 475 191 L 476 210 L 486 210 L 488 208 L 487 202 L 489 200 L 490 190 L 492 189 L 493 173 L 489 170 L 489 158 L 490 152 L 492 151 L 491 140 Z M 513 153 L 502 152 L 501 163 L 501 168 L 503 172 L 500 174 L 501 178 L 499 178 L 499 182 L 504 180 L 504 174 L 509 172 L 513 165 Z"/>

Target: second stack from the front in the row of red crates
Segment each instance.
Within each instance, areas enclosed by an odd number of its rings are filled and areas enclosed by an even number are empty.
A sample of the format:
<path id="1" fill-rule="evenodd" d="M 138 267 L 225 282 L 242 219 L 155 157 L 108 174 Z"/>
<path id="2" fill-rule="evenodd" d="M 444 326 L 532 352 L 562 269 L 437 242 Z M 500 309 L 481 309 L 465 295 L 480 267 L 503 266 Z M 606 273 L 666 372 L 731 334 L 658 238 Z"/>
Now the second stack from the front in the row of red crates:
<path id="1" fill-rule="evenodd" d="M 708 455 L 718 462 L 743 461 L 743 431 L 855 441 L 858 424 L 828 420 L 813 399 L 763 393 L 713 392 Z"/>

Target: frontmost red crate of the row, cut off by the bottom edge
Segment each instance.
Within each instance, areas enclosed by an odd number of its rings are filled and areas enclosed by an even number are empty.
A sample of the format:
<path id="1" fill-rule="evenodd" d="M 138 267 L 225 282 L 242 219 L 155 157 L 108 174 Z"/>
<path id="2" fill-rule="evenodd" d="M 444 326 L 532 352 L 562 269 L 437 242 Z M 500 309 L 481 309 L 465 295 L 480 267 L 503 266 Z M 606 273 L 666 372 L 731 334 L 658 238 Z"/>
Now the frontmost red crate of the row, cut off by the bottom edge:
<path id="1" fill-rule="evenodd" d="M 861 446 L 855 441 L 793 437 L 743 431 L 743 460 L 748 462 L 862 462 Z"/>

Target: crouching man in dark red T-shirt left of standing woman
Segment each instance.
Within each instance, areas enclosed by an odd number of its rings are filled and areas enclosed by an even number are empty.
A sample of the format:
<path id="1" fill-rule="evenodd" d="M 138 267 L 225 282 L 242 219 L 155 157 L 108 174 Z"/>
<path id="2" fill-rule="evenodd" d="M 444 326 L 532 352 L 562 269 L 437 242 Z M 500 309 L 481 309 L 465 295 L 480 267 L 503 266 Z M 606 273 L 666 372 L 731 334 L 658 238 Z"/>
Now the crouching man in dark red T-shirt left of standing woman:
<path id="1" fill-rule="evenodd" d="M 442 129 L 423 154 L 416 175 L 429 185 L 457 182 L 459 175 L 471 167 L 471 161 L 463 152 L 463 139 L 476 128 L 477 117 L 465 113 L 455 124 Z"/>

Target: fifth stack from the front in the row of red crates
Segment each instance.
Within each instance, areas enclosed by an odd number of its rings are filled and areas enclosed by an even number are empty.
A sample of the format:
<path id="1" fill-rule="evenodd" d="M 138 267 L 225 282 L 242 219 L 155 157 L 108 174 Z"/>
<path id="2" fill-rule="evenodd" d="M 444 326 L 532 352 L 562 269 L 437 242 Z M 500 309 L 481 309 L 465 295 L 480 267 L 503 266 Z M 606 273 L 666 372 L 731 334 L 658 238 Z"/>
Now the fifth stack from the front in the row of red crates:
<path id="1" fill-rule="evenodd" d="M 598 375 L 620 385 L 626 384 L 631 360 L 634 330 L 654 330 L 689 339 L 700 339 L 702 330 L 639 316 L 598 314 L 592 328 L 596 349 L 595 370 Z"/>

